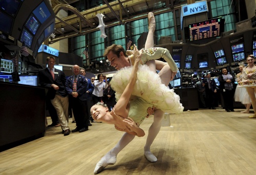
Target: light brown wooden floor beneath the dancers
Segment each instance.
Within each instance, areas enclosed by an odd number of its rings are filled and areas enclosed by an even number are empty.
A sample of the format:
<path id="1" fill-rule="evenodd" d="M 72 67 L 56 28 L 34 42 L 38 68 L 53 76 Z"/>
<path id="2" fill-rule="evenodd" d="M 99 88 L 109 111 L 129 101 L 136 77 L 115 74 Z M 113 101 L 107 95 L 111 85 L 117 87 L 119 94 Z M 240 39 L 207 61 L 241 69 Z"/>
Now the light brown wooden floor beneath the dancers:
<path id="1" fill-rule="evenodd" d="M 153 119 L 99 174 L 256 174 L 256 119 L 242 110 L 188 111 L 170 115 L 152 145 L 158 158 L 148 162 L 143 146 Z M 251 111 L 252 113 L 252 111 Z M 48 118 L 50 122 L 50 118 Z M 121 138 L 113 125 L 92 123 L 84 133 L 63 136 L 50 127 L 43 138 L 0 152 L 0 174 L 93 174 L 96 163 Z M 71 129 L 75 123 L 71 123 Z"/>

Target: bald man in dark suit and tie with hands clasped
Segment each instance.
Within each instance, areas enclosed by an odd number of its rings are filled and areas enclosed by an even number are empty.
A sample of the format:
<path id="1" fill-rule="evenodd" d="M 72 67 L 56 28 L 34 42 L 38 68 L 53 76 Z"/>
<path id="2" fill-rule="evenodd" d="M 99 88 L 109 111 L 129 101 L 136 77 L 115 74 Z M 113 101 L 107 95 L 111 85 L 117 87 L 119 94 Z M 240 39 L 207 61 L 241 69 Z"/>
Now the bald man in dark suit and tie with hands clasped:
<path id="1" fill-rule="evenodd" d="M 75 132 L 85 132 L 88 130 L 88 109 L 87 109 L 87 86 L 88 80 L 80 75 L 79 65 L 73 65 L 73 75 L 66 81 L 66 90 L 70 96 L 71 107 L 76 121 Z"/>

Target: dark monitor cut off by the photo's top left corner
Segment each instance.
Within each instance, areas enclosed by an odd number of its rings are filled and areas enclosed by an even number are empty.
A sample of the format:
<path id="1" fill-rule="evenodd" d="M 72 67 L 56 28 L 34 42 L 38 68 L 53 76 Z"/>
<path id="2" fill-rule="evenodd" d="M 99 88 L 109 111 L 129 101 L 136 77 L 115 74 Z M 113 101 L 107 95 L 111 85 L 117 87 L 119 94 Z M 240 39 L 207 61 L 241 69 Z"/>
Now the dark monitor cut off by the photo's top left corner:
<path id="1" fill-rule="evenodd" d="M 16 15 L 19 4 L 20 4 L 18 0 L 1 0 L 0 2 L 1 2 L 0 3 L 1 10 L 5 11 L 10 16 L 14 17 Z"/>

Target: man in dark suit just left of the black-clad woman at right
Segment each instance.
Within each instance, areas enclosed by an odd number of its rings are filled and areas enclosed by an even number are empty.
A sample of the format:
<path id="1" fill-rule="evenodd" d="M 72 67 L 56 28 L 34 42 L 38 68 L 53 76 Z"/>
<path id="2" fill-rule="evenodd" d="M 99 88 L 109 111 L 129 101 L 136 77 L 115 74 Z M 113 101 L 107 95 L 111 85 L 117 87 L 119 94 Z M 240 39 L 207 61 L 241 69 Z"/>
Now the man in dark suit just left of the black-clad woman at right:
<path id="1" fill-rule="evenodd" d="M 214 106 L 215 94 L 217 93 L 217 85 L 214 79 L 210 78 L 210 73 L 206 75 L 206 78 L 203 80 L 206 93 L 206 104 L 212 110 L 216 110 Z"/>

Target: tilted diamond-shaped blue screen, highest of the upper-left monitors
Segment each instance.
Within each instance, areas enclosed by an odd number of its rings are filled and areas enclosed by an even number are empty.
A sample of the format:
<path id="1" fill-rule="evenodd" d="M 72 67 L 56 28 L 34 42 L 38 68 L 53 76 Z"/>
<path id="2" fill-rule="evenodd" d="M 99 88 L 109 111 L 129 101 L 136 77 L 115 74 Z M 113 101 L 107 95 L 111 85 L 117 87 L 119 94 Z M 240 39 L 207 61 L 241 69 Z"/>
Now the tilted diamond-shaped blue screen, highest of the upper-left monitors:
<path id="1" fill-rule="evenodd" d="M 45 2 L 39 4 L 39 6 L 37 6 L 33 11 L 33 14 L 40 21 L 41 24 L 43 24 L 51 16 L 51 12 L 49 11 Z"/>

